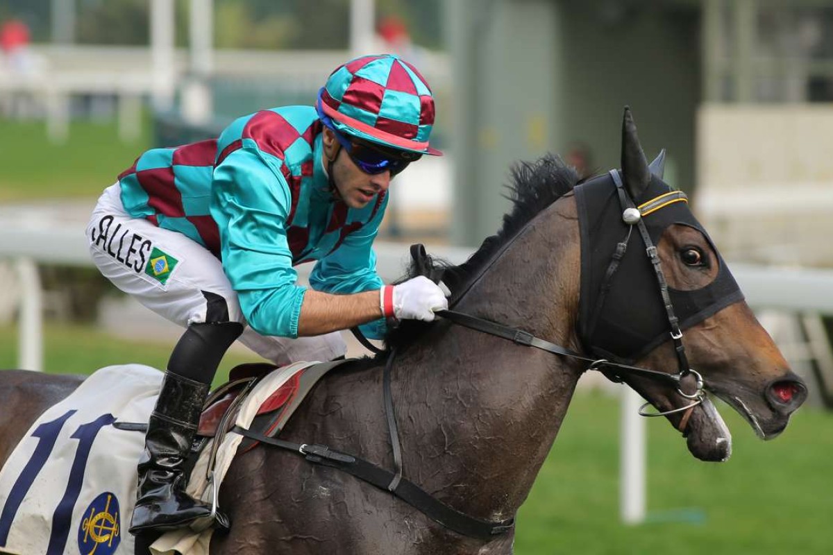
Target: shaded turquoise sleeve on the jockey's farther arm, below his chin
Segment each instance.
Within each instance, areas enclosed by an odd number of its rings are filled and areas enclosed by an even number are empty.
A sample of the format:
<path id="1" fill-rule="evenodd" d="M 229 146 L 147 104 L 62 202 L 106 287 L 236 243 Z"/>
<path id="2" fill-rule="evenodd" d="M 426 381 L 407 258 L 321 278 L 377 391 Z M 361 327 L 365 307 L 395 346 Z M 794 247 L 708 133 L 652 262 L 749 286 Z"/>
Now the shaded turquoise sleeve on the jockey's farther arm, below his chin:
<path id="1" fill-rule="evenodd" d="M 387 198 L 385 196 L 382 206 L 367 224 L 347 235 L 336 250 L 317 261 L 309 279 L 312 289 L 345 295 L 382 288 L 384 283 L 376 271 L 373 240 L 379 232 Z M 387 332 L 383 319 L 360 327 L 371 339 L 382 339 Z"/>

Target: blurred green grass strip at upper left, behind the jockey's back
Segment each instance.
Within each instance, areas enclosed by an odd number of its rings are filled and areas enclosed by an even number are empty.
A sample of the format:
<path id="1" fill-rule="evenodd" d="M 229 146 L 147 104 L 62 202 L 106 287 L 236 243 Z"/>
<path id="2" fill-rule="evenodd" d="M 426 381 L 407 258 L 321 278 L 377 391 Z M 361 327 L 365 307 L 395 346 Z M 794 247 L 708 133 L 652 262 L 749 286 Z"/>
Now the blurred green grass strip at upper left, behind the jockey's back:
<path id="1" fill-rule="evenodd" d="M 137 141 L 122 142 L 115 121 L 73 121 L 52 144 L 43 121 L 0 119 L 0 202 L 98 196 L 150 144 L 145 118 Z"/>

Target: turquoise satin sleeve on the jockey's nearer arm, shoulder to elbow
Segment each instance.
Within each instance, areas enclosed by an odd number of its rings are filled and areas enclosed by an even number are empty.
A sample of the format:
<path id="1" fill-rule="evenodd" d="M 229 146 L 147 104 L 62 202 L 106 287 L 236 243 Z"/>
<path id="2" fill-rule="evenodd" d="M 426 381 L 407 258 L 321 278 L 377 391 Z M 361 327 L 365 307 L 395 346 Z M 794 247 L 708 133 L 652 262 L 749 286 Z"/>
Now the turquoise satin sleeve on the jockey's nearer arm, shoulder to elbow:
<path id="1" fill-rule="evenodd" d="M 243 146 L 217 165 L 211 215 L 248 324 L 259 334 L 294 338 L 307 288 L 297 285 L 287 244 L 289 187 L 281 161 L 267 158 L 257 146 Z"/>

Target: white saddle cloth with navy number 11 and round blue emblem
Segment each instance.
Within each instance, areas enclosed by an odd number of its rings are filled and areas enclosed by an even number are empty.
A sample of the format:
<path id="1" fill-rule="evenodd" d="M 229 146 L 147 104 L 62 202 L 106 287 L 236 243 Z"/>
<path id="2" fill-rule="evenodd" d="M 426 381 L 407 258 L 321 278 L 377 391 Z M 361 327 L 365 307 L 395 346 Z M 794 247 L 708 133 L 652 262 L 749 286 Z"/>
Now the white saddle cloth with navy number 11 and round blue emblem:
<path id="1" fill-rule="evenodd" d="M 127 533 L 162 372 L 107 366 L 42 414 L 0 470 L 0 553 L 132 555 Z"/>

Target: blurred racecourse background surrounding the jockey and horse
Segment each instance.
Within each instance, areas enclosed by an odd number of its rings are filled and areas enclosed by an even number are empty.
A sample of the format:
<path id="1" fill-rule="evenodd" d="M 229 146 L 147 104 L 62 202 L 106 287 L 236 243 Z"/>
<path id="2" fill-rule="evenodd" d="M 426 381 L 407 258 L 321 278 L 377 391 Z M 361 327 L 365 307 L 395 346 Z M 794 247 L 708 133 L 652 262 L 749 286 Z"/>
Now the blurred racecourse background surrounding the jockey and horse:
<path id="1" fill-rule="evenodd" d="M 621 389 L 582 378 L 516 553 L 833 552 L 833 0 L 0 0 L 0 367 L 163 368 L 180 330 L 88 259 L 97 196 L 145 149 L 312 104 L 372 52 L 421 70 L 446 152 L 397 177 L 383 277 L 416 241 L 464 260 L 509 208 L 514 161 L 619 166 L 628 104 L 811 386 L 774 443 L 724 406 L 727 463 L 651 423 L 628 513 Z M 224 372 L 253 357 L 232 349 Z"/>

